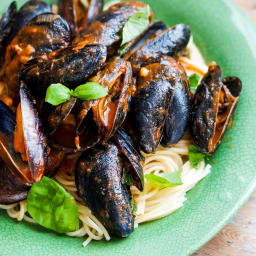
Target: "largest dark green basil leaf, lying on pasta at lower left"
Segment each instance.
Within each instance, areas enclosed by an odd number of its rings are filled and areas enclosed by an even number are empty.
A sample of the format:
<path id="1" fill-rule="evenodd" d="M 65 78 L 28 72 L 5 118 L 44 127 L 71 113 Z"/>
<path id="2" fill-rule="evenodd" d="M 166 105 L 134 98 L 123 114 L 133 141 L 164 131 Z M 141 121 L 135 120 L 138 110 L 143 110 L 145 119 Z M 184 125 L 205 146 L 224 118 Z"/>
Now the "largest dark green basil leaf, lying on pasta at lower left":
<path id="1" fill-rule="evenodd" d="M 75 199 L 56 181 L 43 177 L 28 193 L 27 209 L 41 226 L 66 233 L 79 229 Z"/>

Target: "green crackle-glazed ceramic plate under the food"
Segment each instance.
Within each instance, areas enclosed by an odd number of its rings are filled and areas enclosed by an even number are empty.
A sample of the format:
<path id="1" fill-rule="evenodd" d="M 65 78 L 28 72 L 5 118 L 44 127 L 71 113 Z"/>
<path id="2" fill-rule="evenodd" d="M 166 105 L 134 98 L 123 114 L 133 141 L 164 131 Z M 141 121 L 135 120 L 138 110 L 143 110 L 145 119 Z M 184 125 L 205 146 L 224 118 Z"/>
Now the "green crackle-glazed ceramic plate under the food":
<path id="1" fill-rule="evenodd" d="M 10 0 L 1 2 L 3 10 Z M 18 1 L 19 2 L 19 1 Z M 20 1 L 24 2 L 24 1 Z M 141 225 L 127 239 L 92 242 L 17 223 L 0 212 L 0 255 L 189 255 L 205 244 L 234 216 L 256 187 L 256 31 L 228 0 L 148 0 L 157 19 L 191 26 L 207 61 L 215 60 L 225 75 L 243 81 L 232 138 L 216 154 L 212 173 L 188 193 L 183 208 Z M 231 145 L 232 148 L 228 145 Z"/>

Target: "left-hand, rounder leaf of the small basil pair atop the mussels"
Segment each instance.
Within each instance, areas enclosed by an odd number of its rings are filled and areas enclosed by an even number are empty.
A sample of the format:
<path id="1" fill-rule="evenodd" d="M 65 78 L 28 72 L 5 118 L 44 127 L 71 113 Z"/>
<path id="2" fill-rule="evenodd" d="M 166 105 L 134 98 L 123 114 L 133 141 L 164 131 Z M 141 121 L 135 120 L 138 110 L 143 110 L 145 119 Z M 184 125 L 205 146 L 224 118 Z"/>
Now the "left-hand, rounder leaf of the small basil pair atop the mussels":
<path id="1" fill-rule="evenodd" d="M 70 99 L 71 90 L 62 84 L 51 84 L 46 91 L 45 102 L 57 106 Z"/>

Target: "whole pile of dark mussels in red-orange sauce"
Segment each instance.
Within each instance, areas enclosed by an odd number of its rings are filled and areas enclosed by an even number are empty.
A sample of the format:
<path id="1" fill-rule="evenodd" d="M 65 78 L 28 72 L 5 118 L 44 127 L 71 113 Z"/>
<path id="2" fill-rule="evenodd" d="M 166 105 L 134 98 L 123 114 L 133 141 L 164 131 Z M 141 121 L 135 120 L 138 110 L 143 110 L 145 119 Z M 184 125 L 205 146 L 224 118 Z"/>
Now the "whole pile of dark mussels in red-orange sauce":
<path id="1" fill-rule="evenodd" d="M 0 101 L 0 203 L 26 199 L 33 182 L 70 166 L 93 214 L 111 234 L 125 237 L 134 229 L 134 216 L 124 168 L 143 190 L 140 151 L 174 145 L 188 128 L 198 149 L 212 154 L 234 112 L 241 81 L 222 79 L 220 67 L 211 63 L 193 95 L 177 61 L 190 29 L 152 23 L 152 12 L 150 26 L 116 57 L 120 31 L 144 3 L 121 2 L 103 11 L 103 0 L 91 0 L 88 8 L 60 0 L 58 7 L 60 15 L 40 0 L 19 10 L 13 2 L 0 21 L 1 80 L 14 102 L 10 109 Z M 107 96 L 71 97 L 58 106 L 44 100 L 50 84 L 74 89 L 87 81 L 107 87 Z M 16 122 L 22 124 L 23 155 L 13 142 Z M 77 157 L 68 157 L 72 154 Z"/>

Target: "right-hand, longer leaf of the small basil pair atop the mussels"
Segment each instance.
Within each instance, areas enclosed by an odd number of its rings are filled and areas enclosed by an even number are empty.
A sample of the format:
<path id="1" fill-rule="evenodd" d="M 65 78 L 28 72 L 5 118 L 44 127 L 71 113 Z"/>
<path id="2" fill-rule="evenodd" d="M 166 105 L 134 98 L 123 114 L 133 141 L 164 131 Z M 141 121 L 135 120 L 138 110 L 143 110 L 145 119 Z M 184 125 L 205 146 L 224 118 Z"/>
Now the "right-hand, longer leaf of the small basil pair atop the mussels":
<path id="1" fill-rule="evenodd" d="M 88 82 L 76 87 L 73 96 L 81 100 L 96 100 L 108 94 L 108 90 L 97 83 Z"/>

